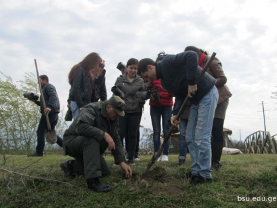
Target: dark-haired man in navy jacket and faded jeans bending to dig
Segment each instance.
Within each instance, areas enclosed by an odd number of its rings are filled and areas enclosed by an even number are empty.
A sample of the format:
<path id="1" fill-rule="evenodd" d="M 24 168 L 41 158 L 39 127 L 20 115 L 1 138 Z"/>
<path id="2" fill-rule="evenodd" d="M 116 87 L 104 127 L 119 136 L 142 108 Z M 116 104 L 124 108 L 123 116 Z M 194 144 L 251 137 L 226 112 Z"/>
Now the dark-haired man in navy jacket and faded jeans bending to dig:
<path id="1" fill-rule="evenodd" d="M 175 94 L 172 125 L 179 124 L 177 113 L 186 96 L 190 98 L 192 106 L 186 128 L 186 141 L 192 161 L 190 183 L 211 182 L 211 130 L 218 101 L 215 78 L 204 73 L 197 83 L 202 68 L 197 65 L 197 53 L 194 51 L 166 55 L 159 63 L 150 58 L 142 59 L 138 71 L 143 78 L 160 78 L 161 86 Z"/>

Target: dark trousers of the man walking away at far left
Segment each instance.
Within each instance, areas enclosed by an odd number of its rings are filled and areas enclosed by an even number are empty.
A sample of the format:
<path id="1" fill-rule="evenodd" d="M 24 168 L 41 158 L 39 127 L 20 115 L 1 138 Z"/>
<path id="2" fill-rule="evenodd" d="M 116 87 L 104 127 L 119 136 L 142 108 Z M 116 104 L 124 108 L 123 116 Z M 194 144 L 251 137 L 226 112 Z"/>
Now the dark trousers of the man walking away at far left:
<path id="1" fill-rule="evenodd" d="M 57 125 L 57 120 L 59 119 L 59 116 L 57 113 L 48 114 L 49 123 L 51 125 L 51 130 L 55 130 L 55 126 Z M 40 117 L 39 125 L 37 127 L 37 147 L 36 153 L 42 155 L 44 151 L 45 146 L 45 136 L 44 133 L 48 131 L 46 117 L 44 114 Z M 57 136 L 57 145 L 62 147 L 62 138 Z"/>

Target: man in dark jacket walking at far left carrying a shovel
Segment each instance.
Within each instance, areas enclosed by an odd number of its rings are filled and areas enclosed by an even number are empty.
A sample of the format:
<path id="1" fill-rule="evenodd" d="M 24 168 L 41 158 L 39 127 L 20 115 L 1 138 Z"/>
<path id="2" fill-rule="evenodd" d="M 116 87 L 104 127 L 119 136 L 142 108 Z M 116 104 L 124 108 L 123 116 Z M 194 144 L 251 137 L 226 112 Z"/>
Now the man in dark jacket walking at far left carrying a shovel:
<path id="1" fill-rule="evenodd" d="M 58 114 L 60 113 L 60 101 L 57 96 L 56 89 L 53 85 L 51 85 L 48 80 L 48 76 L 41 75 L 39 76 L 39 82 L 42 86 L 42 93 L 44 96 L 44 101 L 46 108 L 44 109 L 42 103 L 42 96 L 40 96 L 39 101 L 34 101 L 35 104 L 40 106 L 40 112 L 42 116 L 39 120 L 39 125 L 37 127 L 37 147 L 36 151 L 33 154 L 27 155 L 28 157 L 42 157 L 44 146 L 45 146 L 45 136 L 44 133 L 48 130 L 47 123 L 46 123 L 46 116 L 48 115 L 48 119 L 51 125 L 51 129 L 55 130 L 55 126 L 57 125 L 57 121 L 59 119 Z M 62 138 L 57 136 L 57 144 L 62 147 Z"/>

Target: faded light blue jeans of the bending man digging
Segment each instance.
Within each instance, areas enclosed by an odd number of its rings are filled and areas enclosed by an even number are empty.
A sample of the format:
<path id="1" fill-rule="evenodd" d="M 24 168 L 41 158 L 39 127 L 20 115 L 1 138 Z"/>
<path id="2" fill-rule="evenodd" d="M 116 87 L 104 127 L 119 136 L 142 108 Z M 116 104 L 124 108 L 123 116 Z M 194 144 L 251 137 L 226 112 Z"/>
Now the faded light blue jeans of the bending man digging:
<path id="1" fill-rule="evenodd" d="M 192 175 L 211 178 L 211 130 L 213 116 L 218 102 L 218 92 L 214 86 L 198 105 L 191 105 L 186 141 L 191 157 Z"/>

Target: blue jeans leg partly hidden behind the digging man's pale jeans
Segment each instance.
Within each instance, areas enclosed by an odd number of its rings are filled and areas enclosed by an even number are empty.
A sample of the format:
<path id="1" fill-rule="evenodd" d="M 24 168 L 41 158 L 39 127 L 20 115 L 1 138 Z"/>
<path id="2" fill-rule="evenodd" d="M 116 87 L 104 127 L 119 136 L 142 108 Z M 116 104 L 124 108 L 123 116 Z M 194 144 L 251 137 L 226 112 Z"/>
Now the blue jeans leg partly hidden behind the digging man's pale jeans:
<path id="1" fill-rule="evenodd" d="M 188 125 L 188 119 L 181 119 L 179 123 L 180 141 L 179 141 L 179 159 L 186 159 L 186 153 L 188 153 L 188 145 L 186 144 L 186 126 Z"/>

